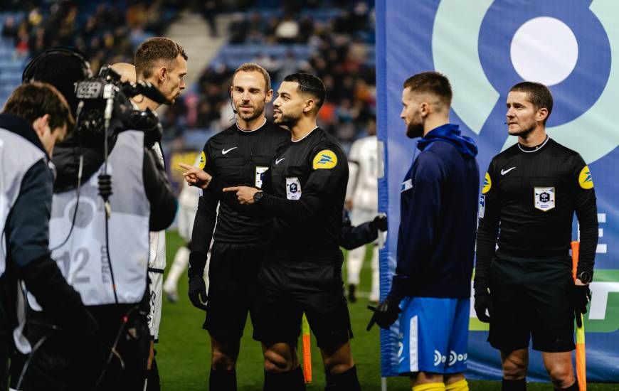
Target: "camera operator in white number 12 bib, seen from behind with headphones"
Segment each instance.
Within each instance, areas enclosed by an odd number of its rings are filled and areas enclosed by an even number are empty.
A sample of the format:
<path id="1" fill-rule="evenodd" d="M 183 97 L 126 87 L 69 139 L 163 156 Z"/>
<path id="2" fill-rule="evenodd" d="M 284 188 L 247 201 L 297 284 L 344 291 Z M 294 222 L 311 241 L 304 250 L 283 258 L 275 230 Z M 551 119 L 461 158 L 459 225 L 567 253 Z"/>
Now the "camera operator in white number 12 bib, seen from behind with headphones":
<path id="1" fill-rule="evenodd" d="M 65 85 L 74 80 L 53 75 L 74 60 L 71 55 L 54 62 L 44 58 L 30 73 L 36 80 L 50 79 Z M 88 64 L 83 57 L 82 61 Z M 120 85 L 114 74 L 104 76 L 93 83 Z M 102 90 L 106 87 L 111 86 L 105 85 Z M 75 92 L 68 93 L 77 100 Z M 119 100 L 125 100 L 119 105 L 115 101 L 112 119 L 105 121 L 102 132 L 87 132 L 80 127 L 86 123 L 80 116 L 97 117 L 97 111 L 80 111 L 86 106 L 76 105 L 77 131 L 60 144 L 63 154 L 54 159 L 61 183 L 55 188 L 52 206 L 53 256 L 100 328 L 96 340 L 55 335 L 55 343 L 41 346 L 37 354 L 45 353 L 49 360 L 41 363 L 41 376 L 36 380 L 56 382 L 63 389 L 142 390 L 149 352 L 149 231 L 164 230 L 176 213 L 176 199 L 164 167 L 152 151 L 157 141 L 154 135 L 161 134 L 154 126 L 159 126 L 157 117 L 133 111 L 125 95 L 117 94 Z M 120 108 L 125 112 L 117 112 Z M 137 119 L 148 119 L 148 126 L 130 123 L 128 118 L 136 117 L 127 116 L 127 112 L 146 114 L 137 115 Z M 98 114 L 99 119 L 107 118 L 108 111 Z M 113 124 L 111 131 L 107 129 L 109 123 Z M 103 174 L 111 174 L 112 178 Z M 109 203 L 100 195 L 106 195 Z M 49 333 L 38 325 L 49 324 L 50 319 L 36 301 L 31 297 L 28 301 L 33 326 L 26 336 L 36 342 Z M 30 370 L 24 372 L 28 380 Z"/>

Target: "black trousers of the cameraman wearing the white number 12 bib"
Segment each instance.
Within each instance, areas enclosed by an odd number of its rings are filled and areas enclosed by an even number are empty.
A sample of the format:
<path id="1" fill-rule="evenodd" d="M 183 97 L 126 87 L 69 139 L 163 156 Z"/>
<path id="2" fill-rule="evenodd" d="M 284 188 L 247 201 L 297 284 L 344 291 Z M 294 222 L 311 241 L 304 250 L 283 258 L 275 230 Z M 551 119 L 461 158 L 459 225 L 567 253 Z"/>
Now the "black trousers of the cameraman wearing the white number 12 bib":
<path id="1" fill-rule="evenodd" d="M 143 389 L 150 346 L 148 311 L 141 304 L 88 309 L 100 328 L 95 336 L 65 333 L 53 330 L 40 319 L 28 320 L 25 331 L 31 346 L 46 339 L 31 354 L 29 363 L 24 360 L 28 367 L 20 390 L 85 391 L 93 390 L 97 383 L 97 390 Z M 17 369 L 11 368 L 11 372 L 21 373 Z M 11 387 L 18 380 L 17 376 L 11 377 Z"/>

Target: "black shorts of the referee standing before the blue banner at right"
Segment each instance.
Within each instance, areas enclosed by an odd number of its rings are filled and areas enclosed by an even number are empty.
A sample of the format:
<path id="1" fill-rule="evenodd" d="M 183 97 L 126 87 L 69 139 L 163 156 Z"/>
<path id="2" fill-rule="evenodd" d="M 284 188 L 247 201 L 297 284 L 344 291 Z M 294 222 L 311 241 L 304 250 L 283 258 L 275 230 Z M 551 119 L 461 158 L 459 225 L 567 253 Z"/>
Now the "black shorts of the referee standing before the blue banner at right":
<path id="1" fill-rule="evenodd" d="M 527 348 L 568 352 L 573 341 L 571 259 L 530 259 L 497 252 L 490 265 L 490 345 L 502 351 Z"/>

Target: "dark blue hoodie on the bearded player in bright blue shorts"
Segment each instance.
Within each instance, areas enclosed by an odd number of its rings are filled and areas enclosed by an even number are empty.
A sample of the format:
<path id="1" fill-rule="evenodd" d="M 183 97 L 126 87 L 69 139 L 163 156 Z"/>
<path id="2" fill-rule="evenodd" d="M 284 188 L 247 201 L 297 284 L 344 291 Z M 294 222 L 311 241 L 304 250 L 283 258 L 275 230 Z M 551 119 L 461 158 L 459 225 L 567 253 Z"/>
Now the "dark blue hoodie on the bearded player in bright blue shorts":
<path id="1" fill-rule="evenodd" d="M 477 228 L 477 146 L 457 125 L 420 141 L 402 183 L 398 263 L 389 296 L 466 298 Z"/>

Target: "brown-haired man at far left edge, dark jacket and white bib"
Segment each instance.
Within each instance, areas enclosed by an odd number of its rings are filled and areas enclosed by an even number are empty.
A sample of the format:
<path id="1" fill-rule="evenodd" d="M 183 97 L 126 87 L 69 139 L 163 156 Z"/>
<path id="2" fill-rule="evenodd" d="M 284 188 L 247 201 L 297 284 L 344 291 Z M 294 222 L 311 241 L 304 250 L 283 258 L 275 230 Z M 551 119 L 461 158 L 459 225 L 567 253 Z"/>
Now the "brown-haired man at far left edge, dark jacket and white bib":
<path id="1" fill-rule="evenodd" d="M 48 84 L 18 87 L 0 114 L 0 390 L 6 390 L 6 358 L 11 333 L 24 326 L 25 286 L 58 328 L 72 333 L 92 330 L 94 321 L 51 258 L 48 223 L 53 146 L 73 127 L 64 97 Z M 24 352 L 32 346 L 23 338 Z"/>

